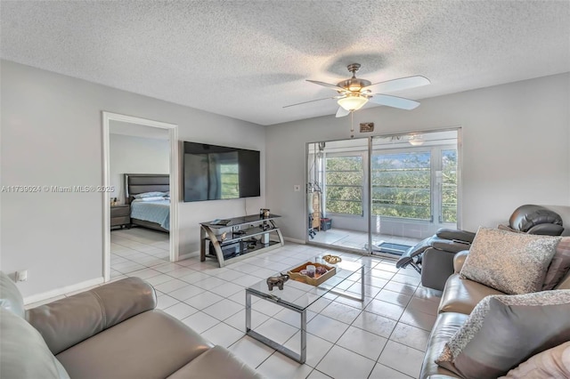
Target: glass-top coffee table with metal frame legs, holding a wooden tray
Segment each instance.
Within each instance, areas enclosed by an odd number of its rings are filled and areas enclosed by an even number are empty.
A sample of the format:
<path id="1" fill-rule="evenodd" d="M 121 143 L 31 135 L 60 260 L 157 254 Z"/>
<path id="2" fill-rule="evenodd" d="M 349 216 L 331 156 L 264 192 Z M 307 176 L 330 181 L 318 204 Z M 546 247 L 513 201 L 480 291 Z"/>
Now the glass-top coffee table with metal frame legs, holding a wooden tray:
<path id="1" fill-rule="evenodd" d="M 295 359 L 299 363 L 305 363 L 306 359 L 306 310 L 311 304 L 321 299 L 322 296 L 328 293 L 338 294 L 344 297 L 352 298 L 358 301 L 364 301 L 364 266 L 361 263 L 355 262 L 338 262 L 331 264 L 322 260 L 322 257 L 315 257 L 307 259 L 306 261 L 299 262 L 293 266 L 295 268 L 305 262 L 322 263 L 327 266 L 336 268 L 335 275 L 325 280 L 318 286 L 308 285 L 297 280 L 289 279 L 285 282 L 283 289 L 273 286 L 273 290 L 269 290 L 266 280 L 261 280 L 253 286 L 246 288 L 246 335 L 250 335 L 257 341 L 265 343 L 267 346 L 272 347 L 276 351 Z M 292 269 L 291 268 L 291 269 Z M 360 270 L 361 274 L 361 288 L 360 296 L 349 294 L 346 291 L 338 289 L 338 285 L 346 280 L 346 278 L 353 275 Z M 286 273 L 287 270 L 282 271 Z M 279 275 L 278 272 L 275 275 Z M 265 335 L 260 335 L 251 329 L 251 296 L 256 296 L 268 302 L 274 302 L 281 305 L 281 307 L 288 310 L 294 310 L 301 316 L 301 351 L 299 353 L 291 351 L 281 343 L 276 343 Z"/>

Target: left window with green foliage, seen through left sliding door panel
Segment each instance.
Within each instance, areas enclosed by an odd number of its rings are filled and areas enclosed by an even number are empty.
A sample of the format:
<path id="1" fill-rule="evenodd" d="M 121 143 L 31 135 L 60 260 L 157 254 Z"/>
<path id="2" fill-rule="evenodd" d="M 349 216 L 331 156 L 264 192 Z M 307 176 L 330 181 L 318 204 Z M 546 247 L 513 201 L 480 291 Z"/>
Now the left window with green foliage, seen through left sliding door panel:
<path id="1" fill-rule="evenodd" d="M 325 212 L 362 216 L 362 157 L 326 157 Z"/>

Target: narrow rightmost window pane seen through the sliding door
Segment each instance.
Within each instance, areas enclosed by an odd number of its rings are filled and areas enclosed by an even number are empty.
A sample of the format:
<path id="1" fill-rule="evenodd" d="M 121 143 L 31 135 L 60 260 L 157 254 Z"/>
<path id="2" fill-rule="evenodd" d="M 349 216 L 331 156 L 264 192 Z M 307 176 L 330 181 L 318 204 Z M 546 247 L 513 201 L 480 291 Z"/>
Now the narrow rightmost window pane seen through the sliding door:
<path id="1" fill-rule="evenodd" d="M 442 150 L 442 219 L 457 222 L 457 150 Z"/>

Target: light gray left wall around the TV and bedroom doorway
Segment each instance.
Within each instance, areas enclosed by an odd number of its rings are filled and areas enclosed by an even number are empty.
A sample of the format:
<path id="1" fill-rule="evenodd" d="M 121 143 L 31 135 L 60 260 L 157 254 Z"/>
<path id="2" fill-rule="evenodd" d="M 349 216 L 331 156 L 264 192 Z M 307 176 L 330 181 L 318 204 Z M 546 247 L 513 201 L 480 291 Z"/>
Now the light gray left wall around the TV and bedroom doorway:
<path id="1" fill-rule="evenodd" d="M 106 110 L 179 125 L 181 141 L 261 150 L 262 196 L 248 199 L 248 213 L 265 206 L 263 126 L 6 60 L 0 80 L 2 186 L 102 185 Z M 102 278 L 102 193 L 3 192 L 0 200 L 0 269 L 28 269 L 28 281 L 19 283 L 24 296 Z M 199 247 L 198 222 L 243 214 L 245 201 L 175 206 L 186 254 Z"/>

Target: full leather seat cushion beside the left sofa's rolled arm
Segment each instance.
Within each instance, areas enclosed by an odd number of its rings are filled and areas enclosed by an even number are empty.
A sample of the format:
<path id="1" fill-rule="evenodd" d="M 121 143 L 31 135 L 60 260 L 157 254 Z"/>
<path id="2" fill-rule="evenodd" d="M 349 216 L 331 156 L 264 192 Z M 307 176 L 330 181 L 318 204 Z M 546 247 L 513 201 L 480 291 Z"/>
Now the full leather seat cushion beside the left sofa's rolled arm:
<path id="1" fill-rule="evenodd" d="M 56 357 L 71 377 L 165 378 L 211 347 L 180 320 L 149 310 Z"/>

